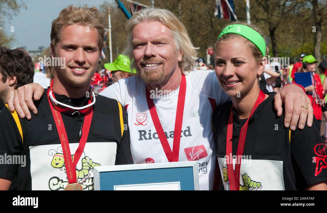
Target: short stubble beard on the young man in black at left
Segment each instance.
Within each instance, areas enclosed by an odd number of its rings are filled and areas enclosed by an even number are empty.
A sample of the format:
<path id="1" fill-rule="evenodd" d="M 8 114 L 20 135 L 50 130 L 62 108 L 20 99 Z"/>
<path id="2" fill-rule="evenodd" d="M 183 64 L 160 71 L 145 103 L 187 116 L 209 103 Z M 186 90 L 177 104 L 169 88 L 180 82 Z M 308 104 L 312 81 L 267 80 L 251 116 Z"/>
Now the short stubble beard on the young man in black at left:
<path id="1" fill-rule="evenodd" d="M 66 68 L 70 69 L 69 66 L 74 66 L 74 64 L 67 64 Z M 91 78 L 95 74 L 96 67 L 95 67 L 95 69 L 92 70 L 90 65 L 87 65 L 87 66 L 88 66 L 88 69 L 87 69 L 86 73 L 83 75 L 76 75 L 76 74 L 72 73 L 70 70 L 60 69 L 60 67 L 56 67 L 58 79 L 61 82 L 66 82 L 68 85 L 70 85 L 72 87 L 76 87 L 76 88 L 80 88 L 80 87 L 85 86 L 86 84 L 90 84 Z"/>

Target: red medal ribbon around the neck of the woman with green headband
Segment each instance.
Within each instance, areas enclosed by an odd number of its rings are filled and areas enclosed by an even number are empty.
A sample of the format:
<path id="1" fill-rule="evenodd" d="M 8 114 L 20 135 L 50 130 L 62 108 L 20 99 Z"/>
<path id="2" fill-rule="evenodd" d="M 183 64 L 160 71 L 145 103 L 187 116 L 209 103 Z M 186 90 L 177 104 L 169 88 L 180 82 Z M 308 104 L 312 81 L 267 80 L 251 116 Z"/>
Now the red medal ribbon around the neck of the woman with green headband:
<path id="1" fill-rule="evenodd" d="M 253 115 L 256 108 L 265 100 L 265 93 L 260 90 L 259 96 L 252 108 L 249 118 Z M 241 170 L 241 162 L 244 151 L 244 144 L 246 133 L 248 131 L 249 118 L 241 128 L 240 138 L 238 139 L 237 146 L 237 154 L 236 154 L 236 162 L 235 162 L 235 174 L 233 170 L 233 162 L 232 162 L 232 133 L 233 133 L 233 106 L 231 108 L 231 113 L 228 119 L 227 126 L 227 139 L 226 139 L 226 163 L 227 163 L 227 175 L 229 179 L 230 190 L 240 190 L 240 170 Z M 238 160 L 240 159 L 240 161 Z M 239 161 L 239 162 L 238 162 Z"/>

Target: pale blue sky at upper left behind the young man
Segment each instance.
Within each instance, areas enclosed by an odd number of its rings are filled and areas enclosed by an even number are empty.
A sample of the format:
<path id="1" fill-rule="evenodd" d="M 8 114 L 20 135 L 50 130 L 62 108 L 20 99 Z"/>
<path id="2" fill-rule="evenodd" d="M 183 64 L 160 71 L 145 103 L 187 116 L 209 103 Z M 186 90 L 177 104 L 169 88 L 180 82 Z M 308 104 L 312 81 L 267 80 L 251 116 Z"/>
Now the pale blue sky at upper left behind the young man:
<path id="1" fill-rule="evenodd" d="M 51 22 L 58 17 L 60 10 L 69 4 L 98 7 L 106 0 L 27 0 L 27 9 L 21 9 L 12 20 L 7 20 L 4 30 L 16 39 L 11 48 L 26 46 L 27 50 L 36 50 L 39 46 L 50 46 Z M 112 3 L 113 0 L 107 0 Z M 14 32 L 10 32 L 10 27 Z"/>

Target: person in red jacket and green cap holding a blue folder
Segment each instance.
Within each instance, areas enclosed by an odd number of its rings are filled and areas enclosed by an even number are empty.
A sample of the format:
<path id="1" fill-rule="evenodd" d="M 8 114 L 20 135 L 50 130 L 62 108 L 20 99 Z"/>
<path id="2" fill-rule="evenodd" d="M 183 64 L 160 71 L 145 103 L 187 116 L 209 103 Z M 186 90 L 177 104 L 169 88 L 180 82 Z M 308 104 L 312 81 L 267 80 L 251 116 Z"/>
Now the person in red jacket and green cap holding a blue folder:
<path id="1" fill-rule="evenodd" d="M 307 96 L 310 98 L 313 114 L 316 116 L 318 122 L 318 129 L 320 131 L 320 124 L 322 119 L 322 109 L 321 105 L 323 104 L 324 90 L 321 85 L 321 79 L 316 71 L 316 60 L 313 55 L 308 55 L 303 57 L 303 64 L 299 68 L 298 72 L 311 72 L 312 73 L 312 85 L 305 87 L 305 91 L 309 94 Z M 295 65 L 294 65 L 295 66 Z M 293 68 L 294 69 L 294 68 Z M 293 81 L 294 82 L 294 81 Z"/>

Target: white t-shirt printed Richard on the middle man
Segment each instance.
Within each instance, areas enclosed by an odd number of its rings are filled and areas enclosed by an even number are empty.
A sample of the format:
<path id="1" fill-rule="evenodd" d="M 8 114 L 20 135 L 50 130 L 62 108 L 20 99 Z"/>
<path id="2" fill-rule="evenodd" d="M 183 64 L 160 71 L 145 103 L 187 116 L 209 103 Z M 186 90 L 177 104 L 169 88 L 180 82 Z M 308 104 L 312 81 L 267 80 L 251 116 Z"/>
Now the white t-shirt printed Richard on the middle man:
<path id="1" fill-rule="evenodd" d="M 210 99 L 218 106 L 230 100 L 230 97 L 221 89 L 213 71 L 194 70 L 185 77 L 179 161 L 198 160 L 200 189 L 209 190 L 213 188 L 216 164 Z M 152 99 L 170 148 L 173 147 L 178 93 L 179 88 Z M 135 164 L 168 162 L 151 119 L 146 101 L 146 84 L 141 78 L 132 76 L 120 79 L 100 95 L 114 98 L 127 108 L 130 148 Z"/>

